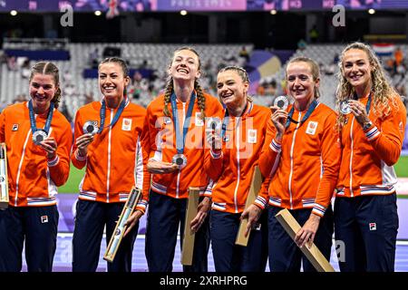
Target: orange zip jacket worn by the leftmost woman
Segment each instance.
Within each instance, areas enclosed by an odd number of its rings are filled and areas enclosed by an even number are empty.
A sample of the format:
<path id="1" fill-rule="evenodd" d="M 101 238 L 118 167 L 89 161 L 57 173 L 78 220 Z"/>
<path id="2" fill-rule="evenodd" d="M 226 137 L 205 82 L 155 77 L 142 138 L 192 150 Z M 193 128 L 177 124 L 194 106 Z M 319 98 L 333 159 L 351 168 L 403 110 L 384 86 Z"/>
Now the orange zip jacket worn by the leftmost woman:
<path id="1" fill-rule="evenodd" d="M 44 128 L 47 115 L 35 115 L 36 127 Z M 73 132 L 63 114 L 54 109 L 49 136 L 57 143 L 56 156 L 47 160 L 45 151 L 34 144 L 28 102 L 5 108 L 0 115 L 0 141 L 7 146 L 9 205 L 44 207 L 56 205 L 57 187 L 70 172 Z"/>

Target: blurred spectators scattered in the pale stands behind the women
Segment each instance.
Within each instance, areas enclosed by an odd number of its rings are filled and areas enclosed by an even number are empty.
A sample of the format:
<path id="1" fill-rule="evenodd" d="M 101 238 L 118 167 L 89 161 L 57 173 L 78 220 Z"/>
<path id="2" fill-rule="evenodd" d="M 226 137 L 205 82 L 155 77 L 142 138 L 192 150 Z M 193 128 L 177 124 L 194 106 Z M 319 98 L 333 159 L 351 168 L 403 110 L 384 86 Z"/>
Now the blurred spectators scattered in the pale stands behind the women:
<path id="1" fill-rule="evenodd" d="M 306 49 L 306 42 L 299 40 L 298 52 L 303 52 Z M 90 68 L 97 68 L 98 63 L 101 62 L 103 56 L 102 53 L 95 48 L 92 53 L 89 54 L 87 66 Z M 201 86 L 209 93 L 217 95 L 217 73 L 219 69 L 227 65 L 245 66 L 250 60 L 250 53 L 248 53 L 245 46 L 242 46 L 238 55 L 226 51 L 223 54 L 221 60 L 215 63 L 209 59 L 202 63 L 203 75 L 200 78 Z M 335 77 L 335 73 L 338 71 L 337 63 L 339 61 L 338 53 L 334 53 L 333 61 L 330 63 L 319 63 L 322 75 L 328 75 Z M 21 73 L 23 79 L 27 79 L 30 72 L 30 61 L 27 58 L 14 56 L 8 56 L 3 51 L 0 51 L 0 65 L 5 63 L 9 71 L 15 71 Z M 397 92 L 403 97 L 405 106 L 408 106 L 408 98 L 406 97 L 405 83 L 403 82 L 406 73 L 406 60 L 403 56 L 403 50 L 397 47 L 392 57 L 383 59 L 384 67 L 393 79 L 393 83 Z M 151 69 L 147 60 L 141 60 L 141 62 L 135 67 L 139 70 Z M 69 70 L 65 70 L 62 73 L 63 76 L 63 99 L 79 100 L 80 105 L 94 101 L 98 96 L 94 96 L 92 92 L 86 92 L 84 95 L 80 95 L 77 90 L 76 84 L 73 82 L 73 75 Z M 160 89 L 165 86 L 167 82 L 167 73 L 158 72 L 152 70 L 149 77 L 143 77 L 139 71 L 135 71 L 131 75 L 131 83 L 128 87 L 128 97 L 132 102 L 141 104 L 144 107 L 160 93 Z M 275 98 L 279 95 L 287 95 L 285 80 L 280 80 L 279 77 L 270 76 L 265 79 L 259 80 L 254 101 L 264 106 L 270 106 L 273 104 Z M 23 102 L 27 99 L 24 94 L 18 94 L 15 97 L 14 102 Z M 0 110 L 2 110 L 7 104 L 3 101 L 0 103 Z M 63 101 L 61 111 L 67 117 L 69 121 L 73 120 L 74 112 L 70 111 L 66 101 Z"/>

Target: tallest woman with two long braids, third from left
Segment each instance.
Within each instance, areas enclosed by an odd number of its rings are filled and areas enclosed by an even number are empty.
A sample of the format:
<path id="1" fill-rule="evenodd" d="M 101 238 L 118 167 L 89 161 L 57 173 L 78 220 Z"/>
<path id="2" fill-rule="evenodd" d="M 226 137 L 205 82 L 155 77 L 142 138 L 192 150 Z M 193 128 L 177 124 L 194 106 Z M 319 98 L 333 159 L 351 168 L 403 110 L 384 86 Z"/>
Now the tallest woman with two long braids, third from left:
<path id="1" fill-rule="evenodd" d="M 189 187 L 200 189 L 199 213 L 191 223 L 197 230 L 193 265 L 184 271 L 206 272 L 209 250 L 210 199 L 204 197 L 209 179 L 203 170 L 206 119 L 219 116 L 218 100 L 199 86 L 199 54 L 181 47 L 172 56 L 164 94 L 147 109 L 150 136 L 148 170 L 152 173 L 146 229 L 146 258 L 151 272 L 170 272 L 180 226 L 183 237 Z"/>

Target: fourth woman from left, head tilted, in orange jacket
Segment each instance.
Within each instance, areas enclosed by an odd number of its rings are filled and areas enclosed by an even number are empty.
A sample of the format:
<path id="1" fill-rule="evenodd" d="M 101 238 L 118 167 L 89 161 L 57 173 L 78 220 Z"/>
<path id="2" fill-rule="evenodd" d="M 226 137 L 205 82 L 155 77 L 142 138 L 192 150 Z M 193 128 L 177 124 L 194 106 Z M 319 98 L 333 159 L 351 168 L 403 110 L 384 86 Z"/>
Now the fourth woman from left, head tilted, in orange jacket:
<path id="1" fill-rule="evenodd" d="M 215 144 L 205 163 L 214 182 L 210 237 L 217 272 L 264 272 L 267 266 L 267 222 L 251 231 L 248 247 L 235 245 L 270 118 L 269 109 L 248 97 L 248 86 L 244 69 L 228 66 L 219 71 L 219 100 L 226 109 L 218 132 L 208 135 L 209 143 L 214 140 Z M 267 180 L 264 183 L 267 185 Z"/>

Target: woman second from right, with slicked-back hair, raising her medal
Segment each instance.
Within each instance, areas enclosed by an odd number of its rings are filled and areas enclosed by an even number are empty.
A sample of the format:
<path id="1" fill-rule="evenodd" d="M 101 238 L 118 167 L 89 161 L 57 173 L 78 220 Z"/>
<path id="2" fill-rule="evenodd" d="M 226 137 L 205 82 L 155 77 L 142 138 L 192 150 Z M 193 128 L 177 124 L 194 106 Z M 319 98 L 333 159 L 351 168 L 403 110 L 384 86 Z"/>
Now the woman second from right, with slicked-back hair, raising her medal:
<path id="1" fill-rule="evenodd" d="M 287 89 L 295 100 L 287 110 L 274 107 L 267 128 L 259 168 L 272 175 L 268 195 L 252 207 L 268 208 L 269 267 L 273 272 L 304 271 L 314 267 L 298 247 L 315 242 L 330 259 L 335 190 L 341 150 L 337 146 L 335 112 L 318 102 L 319 69 L 316 62 L 297 57 L 287 64 Z M 276 169 L 274 172 L 273 170 Z M 268 201 L 268 202 L 267 202 Z M 295 242 L 275 215 L 287 208 L 301 225 Z M 297 247 L 297 246 L 298 247 Z"/>

